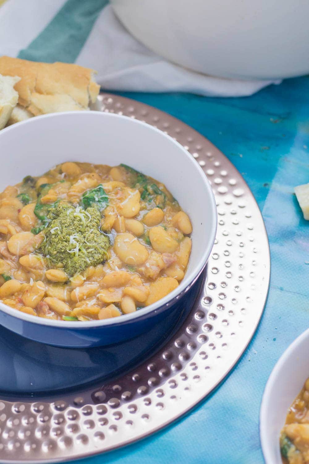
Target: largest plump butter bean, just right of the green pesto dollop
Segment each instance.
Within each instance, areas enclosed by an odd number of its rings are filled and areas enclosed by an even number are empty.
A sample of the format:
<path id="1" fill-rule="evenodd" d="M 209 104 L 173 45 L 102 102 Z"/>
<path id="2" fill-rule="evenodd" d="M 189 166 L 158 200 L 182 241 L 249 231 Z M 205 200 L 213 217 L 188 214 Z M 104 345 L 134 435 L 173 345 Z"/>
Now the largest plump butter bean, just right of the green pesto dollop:
<path id="1" fill-rule="evenodd" d="M 145 263 L 148 258 L 146 247 L 128 232 L 117 235 L 114 242 L 114 251 L 121 261 L 133 266 Z"/>

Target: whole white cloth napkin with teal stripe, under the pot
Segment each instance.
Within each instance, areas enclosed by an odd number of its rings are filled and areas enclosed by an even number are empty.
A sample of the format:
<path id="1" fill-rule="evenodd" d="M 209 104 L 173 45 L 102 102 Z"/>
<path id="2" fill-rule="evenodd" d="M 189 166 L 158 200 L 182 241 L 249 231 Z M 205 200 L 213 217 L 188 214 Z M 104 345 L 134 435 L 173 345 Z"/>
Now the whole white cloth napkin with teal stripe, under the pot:
<path id="1" fill-rule="evenodd" d="M 76 56 L 75 53 L 70 55 L 67 42 L 70 35 L 78 33 L 78 28 L 82 30 L 83 22 L 87 20 L 85 5 L 92 12 L 97 7 L 99 14 Z M 66 22 L 64 15 L 68 14 L 68 6 L 74 18 Z M 59 34 L 59 24 L 63 25 L 63 35 Z M 48 42 L 49 53 L 45 59 L 57 61 L 63 60 L 64 56 L 66 61 L 75 61 L 97 70 L 97 81 L 105 90 L 178 91 L 210 97 L 240 97 L 252 95 L 269 84 L 280 83 L 211 77 L 172 64 L 134 39 L 104 0 L 7 0 L 0 7 L 0 54 L 18 56 L 20 50 L 23 50 L 21 56 L 24 57 L 27 56 L 28 47 L 33 57 L 31 59 L 44 61 L 44 50 L 36 54 L 38 45 L 36 48 L 32 44 L 38 37 L 44 38 L 44 30 L 53 26 L 57 26 L 57 37 L 51 36 L 51 43 Z M 71 34 L 69 28 L 72 28 Z M 50 53 L 52 40 L 57 41 L 54 55 Z M 57 47 L 61 41 L 68 52 L 58 56 Z M 42 40 L 39 43 L 42 47 Z"/>

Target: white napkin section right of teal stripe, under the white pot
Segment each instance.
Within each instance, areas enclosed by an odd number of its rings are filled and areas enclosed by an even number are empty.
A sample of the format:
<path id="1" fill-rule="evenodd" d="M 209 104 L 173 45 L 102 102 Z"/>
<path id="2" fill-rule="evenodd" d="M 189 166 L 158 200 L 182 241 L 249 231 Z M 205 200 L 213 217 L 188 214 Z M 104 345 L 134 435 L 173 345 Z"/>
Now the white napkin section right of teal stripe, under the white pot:
<path id="1" fill-rule="evenodd" d="M 116 18 L 111 6 L 101 12 L 76 62 L 97 69 L 99 84 L 108 90 L 241 97 L 281 82 L 223 79 L 172 64 L 134 39 Z"/>

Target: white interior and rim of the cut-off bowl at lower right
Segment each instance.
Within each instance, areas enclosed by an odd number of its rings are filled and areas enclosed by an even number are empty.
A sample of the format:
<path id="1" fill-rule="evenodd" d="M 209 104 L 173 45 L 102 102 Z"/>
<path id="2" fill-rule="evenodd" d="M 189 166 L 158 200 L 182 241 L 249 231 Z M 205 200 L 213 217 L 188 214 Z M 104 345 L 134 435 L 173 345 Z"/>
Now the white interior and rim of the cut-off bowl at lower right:
<path id="1" fill-rule="evenodd" d="M 279 437 L 290 405 L 309 376 L 309 329 L 284 351 L 267 381 L 260 409 L 266 464 L 282 464 Z"/>

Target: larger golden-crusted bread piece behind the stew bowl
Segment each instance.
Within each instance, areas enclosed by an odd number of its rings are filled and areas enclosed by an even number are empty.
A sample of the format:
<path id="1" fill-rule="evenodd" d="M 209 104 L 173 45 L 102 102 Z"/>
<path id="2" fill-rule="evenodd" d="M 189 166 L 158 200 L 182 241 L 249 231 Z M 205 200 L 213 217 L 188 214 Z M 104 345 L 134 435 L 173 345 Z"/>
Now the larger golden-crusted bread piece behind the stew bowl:
<path id="1" fill-rule="evenodd" d="M 0 73 L 20 77 L 15 86 L 18 103 L 33 116 L 88 110 L 100 91 L 94 81 L 95 71 L 77 64 L 37 63 L 2 56 Z"/>

